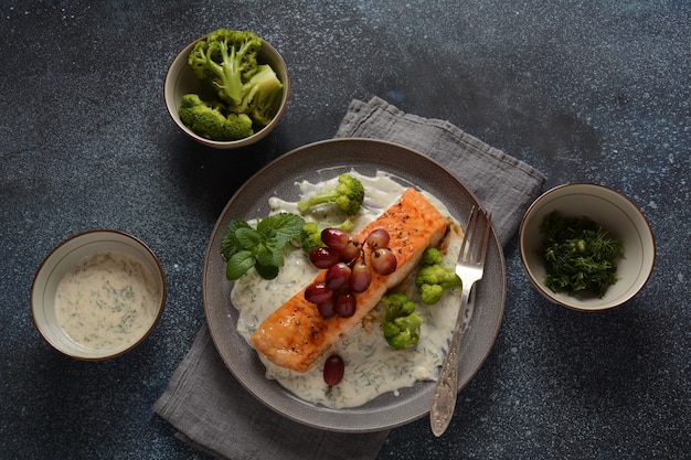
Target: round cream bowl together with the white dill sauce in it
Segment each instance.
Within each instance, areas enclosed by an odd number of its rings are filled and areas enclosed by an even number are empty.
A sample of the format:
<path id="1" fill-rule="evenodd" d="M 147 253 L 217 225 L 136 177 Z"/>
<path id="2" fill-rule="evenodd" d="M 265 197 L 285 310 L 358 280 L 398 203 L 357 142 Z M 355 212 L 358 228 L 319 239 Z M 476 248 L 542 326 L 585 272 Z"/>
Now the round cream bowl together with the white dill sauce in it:
<path id="1" fill-rule="evenodd" d="M 45 341 L 77 360 L 100 361 L 137 346 L 166 301 L 166 276 L 138 238 L 94 229 L 59 244 L 31 286 L 31 315 Z"/>

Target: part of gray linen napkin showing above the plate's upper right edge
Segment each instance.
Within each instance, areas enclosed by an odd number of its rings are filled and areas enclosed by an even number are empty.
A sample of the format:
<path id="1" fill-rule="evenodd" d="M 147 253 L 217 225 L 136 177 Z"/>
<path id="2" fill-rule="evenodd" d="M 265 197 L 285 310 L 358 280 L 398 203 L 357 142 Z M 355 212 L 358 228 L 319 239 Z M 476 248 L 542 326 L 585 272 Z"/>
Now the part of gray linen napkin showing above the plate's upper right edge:
<path id="1" fill-rule="evenodd" d="M 502 245 L 518 231 L 545 178 L 533 167 L 464 132 L 448 121 L 404 114 L 385 100 L 353 100 L 336 133 L 396 142 L 446 167 L 492 213 Z"/>

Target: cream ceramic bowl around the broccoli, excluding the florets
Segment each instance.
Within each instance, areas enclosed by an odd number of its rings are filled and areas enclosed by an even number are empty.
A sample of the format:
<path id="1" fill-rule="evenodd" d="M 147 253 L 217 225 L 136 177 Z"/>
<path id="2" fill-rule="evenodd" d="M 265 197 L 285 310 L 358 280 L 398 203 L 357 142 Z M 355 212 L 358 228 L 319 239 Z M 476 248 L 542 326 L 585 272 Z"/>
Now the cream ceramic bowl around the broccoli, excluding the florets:
<path id="1" fill-rule="evenodd" d="M 205 137 L 199 136 L 190 128 L 188 128 L 180 120 L 180 116 L 178 115 L 178 108 L 180 107 L 180 100 L 182 99 L 182 96 L 184 96 L 185 94 L 194 93 L 200 94 L 200 97 L 202 97 L 202 95 L 205 94 L 204 88 L 202 88 L 202 85 L 194 75 L 194 72 L 192 72 L 192 69 L 188 65 L 188 56 L 190 54 L 190 51 L 192 51 L 194 44 L 198 41 L 204 38 L 205 35 L 194 40 L 184 49 L 182 49 L 182 51 L 178 53 L 168 69 L 168 73 L 166 75 L 166 82 L 163 84 L 163 96 L 166 98 L 166 107 L 168 108 L 168 113 L 172 117 L 176 125 L 178 125 L 178 127 L 182 130 L 182 132 L 184 132 L 195 141 L 203 143 L 204 146 L 209 146 L 215 149 L 237 149 L 255 143 L 258 140 L 263 139 L 266 135 L 272 132 L 276 125 L 278 125 L 278 120 L 280 120 L 280 117 L 286 109 L 286 105 L 288 104 L 288 95 L 290 94 L 290 78 L 288 76 L 288 67 L 286 66 L 285 61 L 280 56 L 280 54 L 278 54 L 276 49 L 266 41 L 264 41 L 257 62 L 259 64 L 270 65 L 274 72 L 276 72 L 276 76 L 284 85 L 283 94 L 277 100 L 278 106 L 276 108 L 276 115 L 268 125 L 266 125 L 262 129 L 256 130 L 253 136 L 249 136 L 247 138 L 238 140 L 206 139 Z M 202 97 L 202 99 L 204 97 Z"/>

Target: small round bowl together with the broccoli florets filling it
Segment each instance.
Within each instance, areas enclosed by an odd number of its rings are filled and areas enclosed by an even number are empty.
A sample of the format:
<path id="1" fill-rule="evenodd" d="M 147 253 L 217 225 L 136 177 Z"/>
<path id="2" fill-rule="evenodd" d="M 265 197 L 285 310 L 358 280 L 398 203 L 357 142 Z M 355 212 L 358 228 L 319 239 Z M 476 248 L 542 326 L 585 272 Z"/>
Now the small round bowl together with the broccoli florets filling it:
<path id="1" fill-rule="evenodd" d="M 278 124 L 290 92 L 280 54 L 251 31 L 216 29 L 189 43 L 166 75 L 166 107 L 178 127 L 216 149 L 248 146 Z"/>

